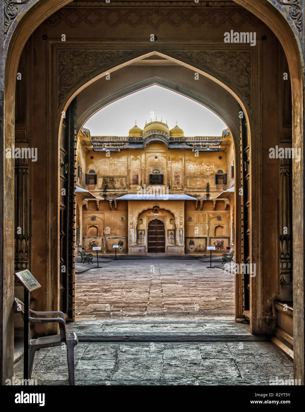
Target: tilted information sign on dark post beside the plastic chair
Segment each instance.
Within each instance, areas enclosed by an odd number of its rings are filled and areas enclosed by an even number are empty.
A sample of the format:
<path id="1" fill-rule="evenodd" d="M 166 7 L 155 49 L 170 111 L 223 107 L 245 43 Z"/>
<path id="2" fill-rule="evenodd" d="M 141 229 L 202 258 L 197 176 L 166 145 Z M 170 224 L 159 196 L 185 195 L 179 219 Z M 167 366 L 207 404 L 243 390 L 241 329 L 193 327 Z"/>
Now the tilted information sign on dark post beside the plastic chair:
<path id="1" fill-rule="evenodd" d="M 14 273 L 18 281 L 24 287 L 24 320 L 23 320 L 23 379 L 29 379 L 29 317 L 30 317 L 30 292 L 32 290 L 41 288 L 31 272 L 26 269 L 21 272 Z"/>

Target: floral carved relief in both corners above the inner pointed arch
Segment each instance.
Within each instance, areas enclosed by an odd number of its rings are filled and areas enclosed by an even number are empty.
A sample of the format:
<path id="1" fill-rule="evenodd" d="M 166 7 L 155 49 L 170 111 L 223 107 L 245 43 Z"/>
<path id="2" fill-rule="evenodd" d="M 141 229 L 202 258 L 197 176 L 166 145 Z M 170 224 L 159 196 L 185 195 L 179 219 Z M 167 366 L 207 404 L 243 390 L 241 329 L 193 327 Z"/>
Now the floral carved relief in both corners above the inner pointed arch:
<path id="1" fill-rule="evenodd" d="M 86 78 L 139 56 L 141 50 L 58 51 L 58 105 L 69 91 Z M 251 108 L 251 54 L 245 51 L 167 50 L 169 56 L 207 71 L 235 87 Z"/>

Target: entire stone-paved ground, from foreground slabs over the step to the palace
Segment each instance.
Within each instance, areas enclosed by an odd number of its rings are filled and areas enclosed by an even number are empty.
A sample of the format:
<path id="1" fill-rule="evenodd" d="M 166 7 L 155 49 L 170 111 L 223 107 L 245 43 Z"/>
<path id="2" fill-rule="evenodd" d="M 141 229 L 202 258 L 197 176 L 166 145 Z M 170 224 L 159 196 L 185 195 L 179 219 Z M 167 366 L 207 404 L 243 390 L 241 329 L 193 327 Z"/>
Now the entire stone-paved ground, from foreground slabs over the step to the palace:
<path id="1" fill-rule="evenodd" d="M 234 278 L 200 260 L 118 260 L 76 275 L 76 385 L 269 385 L 293 364 L 234 321 Z M 178 342 L 182 340 L 182 342 Z M 23 361 L 14 374 L 22 378 Z M 32 379 L 67 385 L 65 346 Z"/>

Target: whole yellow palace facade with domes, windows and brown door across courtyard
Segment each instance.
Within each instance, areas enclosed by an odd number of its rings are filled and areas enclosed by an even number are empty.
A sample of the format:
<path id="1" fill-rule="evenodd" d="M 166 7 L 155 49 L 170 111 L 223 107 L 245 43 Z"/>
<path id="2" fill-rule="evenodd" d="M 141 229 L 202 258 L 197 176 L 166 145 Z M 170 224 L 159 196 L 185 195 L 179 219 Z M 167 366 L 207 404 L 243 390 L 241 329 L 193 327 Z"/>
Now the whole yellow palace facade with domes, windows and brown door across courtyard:
<path id="1" fill-rule="evenodd" d="M 102 254 L 202 255 L 234 248 L 234 151 L 222 136 L 164 122 L 76 145 L 76 248 Z"/>

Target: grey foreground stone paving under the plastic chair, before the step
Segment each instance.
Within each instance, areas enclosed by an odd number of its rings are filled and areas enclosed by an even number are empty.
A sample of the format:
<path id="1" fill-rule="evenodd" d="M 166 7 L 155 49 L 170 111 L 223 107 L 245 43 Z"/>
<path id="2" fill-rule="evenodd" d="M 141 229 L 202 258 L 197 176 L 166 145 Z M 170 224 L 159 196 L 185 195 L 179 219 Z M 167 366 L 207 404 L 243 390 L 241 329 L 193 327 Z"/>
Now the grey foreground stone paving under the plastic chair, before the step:
<path id="1" fill-rule="evenodd" d="M 14 368 L 22 378 L 23 361 Z M 270 342 L 80 342 L 76 385 L 268 385 L 292 379 L 292 363 Z M 65 346 L 37 352 L 32 379 L 67 385 Z"/>

